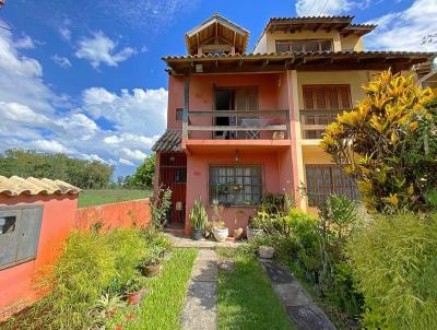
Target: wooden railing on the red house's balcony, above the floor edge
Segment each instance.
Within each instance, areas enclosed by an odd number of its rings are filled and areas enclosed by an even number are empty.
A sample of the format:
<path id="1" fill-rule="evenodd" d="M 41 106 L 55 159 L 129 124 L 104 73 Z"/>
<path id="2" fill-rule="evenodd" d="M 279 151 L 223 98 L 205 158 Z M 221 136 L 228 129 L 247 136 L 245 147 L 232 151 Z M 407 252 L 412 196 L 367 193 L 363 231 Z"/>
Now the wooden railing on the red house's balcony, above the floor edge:
<path id="1" fill-rule="evenodd" d="M 290 139 L 288 110 L 187 111 L 184 109 L 182 119 L 185 140 Z"/>

